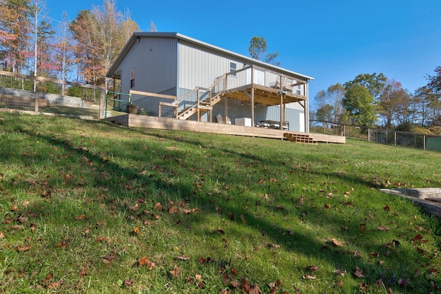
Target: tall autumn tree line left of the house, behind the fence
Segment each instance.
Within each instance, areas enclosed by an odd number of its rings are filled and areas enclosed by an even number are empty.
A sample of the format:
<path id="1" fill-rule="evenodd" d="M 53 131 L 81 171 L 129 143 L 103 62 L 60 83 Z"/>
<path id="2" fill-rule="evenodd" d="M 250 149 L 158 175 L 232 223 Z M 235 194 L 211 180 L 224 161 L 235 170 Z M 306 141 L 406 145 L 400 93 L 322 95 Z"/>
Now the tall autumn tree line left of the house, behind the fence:
<path id="1" fill-rule="evenodd" d="M 106 85 L 105 74 L 139 25 L 116 1 L 81 10 L 57 28 L 44 0 L 0 0 L 0 70 Z M 150 30 L 156 27 L 152 22 Z"/>

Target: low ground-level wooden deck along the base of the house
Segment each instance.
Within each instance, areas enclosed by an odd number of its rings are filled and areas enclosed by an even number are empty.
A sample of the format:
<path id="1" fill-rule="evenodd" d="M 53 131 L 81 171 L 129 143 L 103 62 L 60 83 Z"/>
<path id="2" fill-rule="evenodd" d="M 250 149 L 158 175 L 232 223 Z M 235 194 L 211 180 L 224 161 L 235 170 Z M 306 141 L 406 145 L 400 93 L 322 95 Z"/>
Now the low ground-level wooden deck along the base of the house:
<path id="1" fill-rule="evenodd" d="M 243 127 L 240 125 L 222 125 L 219 123 L 204 123 L 194 120 L 179 120 L 176 118 L 164 118 L 157 116 L 142 116 L 139 114 L 124 114 L 122 116 L 112 116 L 104 118 L 105 121 L 115 123 L 116 125 L 123 125 L 125 127 L 145 127 L 147 129 L 173 129 L 190 132 L 225 134 L 236 136 L 251 136 L 260 138 L 276 138 L 284 139 L 285 134 L 305 138 L 309 135 L 307 140 L 297 140 L 294 142 L 309 143 L 309 141 L 321 143 L 346 143 L 344 136 L 330 136 L 326 134 L 313 134 L 283 131 L 280 129 L 265 129 L 263 127 Z M 292 136 L 291 136 L 292 138 Z"/>

